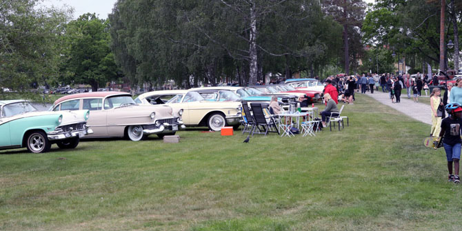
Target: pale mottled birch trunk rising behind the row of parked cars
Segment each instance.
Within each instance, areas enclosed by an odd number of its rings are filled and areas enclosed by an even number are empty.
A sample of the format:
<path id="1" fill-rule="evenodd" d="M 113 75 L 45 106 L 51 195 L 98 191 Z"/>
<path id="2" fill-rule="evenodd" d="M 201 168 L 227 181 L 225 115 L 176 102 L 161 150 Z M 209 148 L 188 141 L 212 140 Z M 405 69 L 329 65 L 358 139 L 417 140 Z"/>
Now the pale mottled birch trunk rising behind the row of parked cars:
<path id="1" fill-rule="evenodd" d="M 249 38 L 249 84 L 250 86 L 257 83 L 258 67 L 257 67 L 257 11 L 255 9 L 255 1 L 250 0 L 250 38 Z"/>

